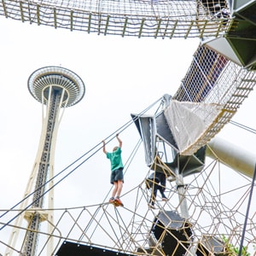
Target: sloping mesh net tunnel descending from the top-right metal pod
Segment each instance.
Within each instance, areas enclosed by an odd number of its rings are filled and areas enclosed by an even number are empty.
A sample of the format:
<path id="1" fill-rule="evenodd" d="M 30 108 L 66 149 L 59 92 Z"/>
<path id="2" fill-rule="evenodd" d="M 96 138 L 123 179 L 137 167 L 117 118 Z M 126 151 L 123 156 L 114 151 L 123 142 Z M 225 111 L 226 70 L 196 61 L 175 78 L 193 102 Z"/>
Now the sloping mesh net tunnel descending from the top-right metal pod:
<path id="1" fill-rule="evenodd" d="M 180 153 L 194 154 L 206 145 L 230 121 L 241 103 L 253 90 L 255 83 L 255 72 L 242 68 L 228 61 L 223 55 L 201 45 L 195 51 L 189 70 L 173 99 L 178 102 L 201 102 L 202 106 L 215 104 L 222 108 L 218 108 L 218 115 L 216 115 L 216 107 L 212 108 L 212 113 L 208 112 L 215 116 L 212 123 L 207 122 L 204 112 L 196 113 L 204 123 L 205 130 L 200 132 L 201 137 L 195 138 L 194 142 L 191 141 L 191 145 L 183 148 Z M 197 109 L 194 108 L 191 113 L 195 114 Z M 192 134 L 198 122 L 188 118 L 186 125 L 179 131 L 181 135 L 189 132 Z"/>

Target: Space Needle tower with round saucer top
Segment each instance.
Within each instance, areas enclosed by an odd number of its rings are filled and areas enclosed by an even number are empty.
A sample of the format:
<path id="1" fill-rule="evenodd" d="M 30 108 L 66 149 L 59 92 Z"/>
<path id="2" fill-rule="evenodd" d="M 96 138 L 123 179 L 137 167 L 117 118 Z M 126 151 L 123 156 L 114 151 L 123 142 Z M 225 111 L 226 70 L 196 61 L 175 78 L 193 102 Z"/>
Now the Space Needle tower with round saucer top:
<path id="1" fill-rule="evenodd" d="M 64 110 L 84 97 L 84 82 L 76 73 L 63 67 L 42 67 L 31 74 L 28 79 L 28 90 L 42 103 L 43 124 L 38 145 L 38 153 L 32 166 L 32 173 L 26 185 L 24 200 L 20 209 L 26 209 L 16 218 L 15 228 L 9 238 L 9 245 L 18 240 L 19 227 L 23 219 L 27 221 L 26 234 L 22 243 L 22 255 L 36 255 L 38 230 L 43 221 L 47 222 L 48 232 L 54 230 L 54 162 L 57 132 Z M 47 186 L 46 186 L 47 185 Z M 44 196 L 47 190 L 47 197 Z M 32 196 L 28 196 L 32 195 Z M 31 199 L 32 198 L 32 199 Z M 43 207 L 47 211 L 43 209 Z M 48 255 L 52 252 L 53 239 L 49 238 Z M 8 249 L 5 255 L 13 252 Z"/>

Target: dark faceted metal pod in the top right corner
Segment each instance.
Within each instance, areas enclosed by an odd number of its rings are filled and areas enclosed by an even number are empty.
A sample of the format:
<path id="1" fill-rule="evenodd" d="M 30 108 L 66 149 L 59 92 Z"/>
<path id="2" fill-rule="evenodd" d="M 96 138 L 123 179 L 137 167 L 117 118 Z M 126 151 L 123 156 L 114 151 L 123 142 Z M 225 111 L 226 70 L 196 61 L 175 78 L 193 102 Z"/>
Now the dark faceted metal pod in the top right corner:
<path id="1" fill-rule="evenodd" d="M 255 70 L 256 1 L 233 0 L 232 4 L 231 12 L 235 17 L 234 26 L 224 37 L 210 38 L 210 40 L 204 38 L 202 42 L 230 61 L 234 61 L 248 70 Z"/>

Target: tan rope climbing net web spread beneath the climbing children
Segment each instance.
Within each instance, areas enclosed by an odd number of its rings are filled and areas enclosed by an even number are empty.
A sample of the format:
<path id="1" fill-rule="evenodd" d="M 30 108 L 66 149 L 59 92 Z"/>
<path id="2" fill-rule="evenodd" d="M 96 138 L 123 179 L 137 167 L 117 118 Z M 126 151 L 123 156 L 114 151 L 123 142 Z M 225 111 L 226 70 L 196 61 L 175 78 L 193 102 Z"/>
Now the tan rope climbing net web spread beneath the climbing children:
<path id="1" fill-rule="evenodd" d="M 86 168 L 86 163 L 83 168 Z M 155 209 L 148 207 L 152 192 L 145 182 L 149 172 L 154 171 L 152 167 L 137 186 L 122 196 L 125 207 L 100 202 L 55 209 L 55 223 L 51 223 L 53 231 L 49 234 L 44 227 L 47 218 L 38 231 L 40 243 L 37 255 L 45 255 L 49 237 L 55 238 L 54 255 L 58 255 L 58 248 L 65 241 L 72 242 L 76 247 L 89 247 L 91 254 L 88 255 L 97 255 L 93 252 L 100 248 L 102 252 L 109 250 L 116 252 L 116 255 L 171 256 L 181 255 L 181 252 L 191 253 L 193 247 L 197 255 L 233 255 L 241 241 L 251 181 L 237 173 L 234 180 L 239 183 L 230 183 L 228 177 L 230 172 L 232 176 L 234 173 L 223 168 L 218 160 L 212 160 L 202 172 L 186 177 L 184 188 L 189 218 L 181 218 L 178 213 L 181 202 L 172 178 L 166 183 L 168 201 L 161 201 L 160 195 L 157 195 Z M 252 207 L 244 241 L 247 252 L 253 252 L 255 247 L 255 205 Z M 47 214 L 48 209 L 41 211 Z M 26 232 L 25 228 L 19 228 L 21 234 Z M 3 245 L 4 241 L 0 243 Z M 20 247 L 13 249 L 20 253 Z"/>

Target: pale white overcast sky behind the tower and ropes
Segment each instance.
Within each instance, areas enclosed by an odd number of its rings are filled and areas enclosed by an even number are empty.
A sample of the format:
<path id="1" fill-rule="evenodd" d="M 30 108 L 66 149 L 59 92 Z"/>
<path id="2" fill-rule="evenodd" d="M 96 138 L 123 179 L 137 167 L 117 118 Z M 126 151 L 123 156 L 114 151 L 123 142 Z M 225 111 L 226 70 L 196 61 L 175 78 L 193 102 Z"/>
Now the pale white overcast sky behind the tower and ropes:
<path id="1" fill-rule="evenodd" d="M 131 113 L 140 113 L 166 93 L 173 95 L 200 43 L 199 39 L 104 37 L 3 17 L 0 30 L 2 209 L 13 207 L 22 198 L 38 150 L 41 104 L 27 90 L 31 73 L 40 67 L 66 67 L 85 84 L 84 99 L 67 108 L 61 120 L 55 151 L 57 173 L 128 122 Z M 236 122 L 256 127 L 255 99 L 253 91 L 236 113 Z M 255 135 L 241 128 L 226 125 L 218 136 L 255 153 Z M 135 125 L 120 138 L 127 160 L 139 139 Z M 114 144 L 109 143 L 107 149 Z M 130 174 L 132 182 L 140 183 L 147 170 L 142 148 L 140 165 Z M 94 172 L 97 175 L 91 176 Z M 90 166 L 80 168 L 56 187 L 55 205 L 99 203 L 111 189 L 109 172 L 105 155 L 96 154 Z M 131 185 L 125 183 L 124 191 Z"/>

